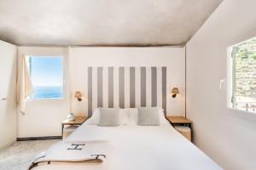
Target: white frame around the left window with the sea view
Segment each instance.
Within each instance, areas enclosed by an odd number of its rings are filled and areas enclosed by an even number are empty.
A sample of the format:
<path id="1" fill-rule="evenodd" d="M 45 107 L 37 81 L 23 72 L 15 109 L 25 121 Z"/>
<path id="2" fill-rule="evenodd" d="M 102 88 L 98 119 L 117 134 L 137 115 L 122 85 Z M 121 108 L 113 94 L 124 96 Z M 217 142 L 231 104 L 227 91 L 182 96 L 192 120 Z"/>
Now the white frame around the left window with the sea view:
<path id="1" fill-rule="evenodd" d="M 62 58 L 62 71 L 63 71 L 63 75 L 62 75 L 62 86 L 63 86 L 63 95 L 62 98 L 48 98 L 48 99 L 32 99 L 30 96 L 26 99 L 26 102 L 28 103 L 33 103 L 33 102 L 52 102 L 52 101 L 64 101 L 67 99 L 67 81 L 66 81 L 66 57 L 63 55 L 37 55 L 37 54 L 29 54 L 26 55 L 27 57 L 49 57 L 49 58 L 57 58 L 57 57 L 61 57 Z M 30 69 L 30 65 L 27 65 L 28 69 Z"/>

